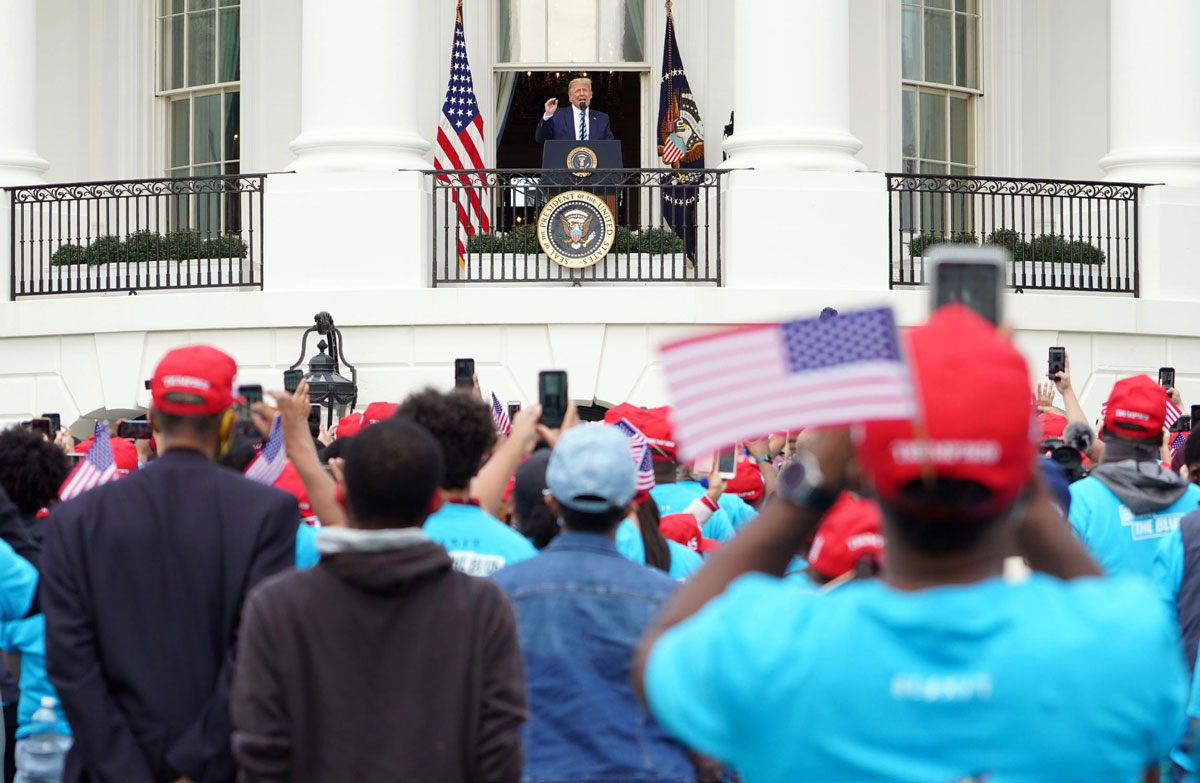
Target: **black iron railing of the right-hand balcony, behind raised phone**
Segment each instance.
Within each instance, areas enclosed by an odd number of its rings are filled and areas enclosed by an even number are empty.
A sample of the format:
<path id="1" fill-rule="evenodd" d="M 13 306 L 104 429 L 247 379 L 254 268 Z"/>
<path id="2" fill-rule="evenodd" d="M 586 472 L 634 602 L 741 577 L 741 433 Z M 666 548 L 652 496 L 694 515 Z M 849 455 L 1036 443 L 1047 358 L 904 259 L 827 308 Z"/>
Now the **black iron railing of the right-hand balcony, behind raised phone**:
<path id="1" fill-rule="evenodd" d="M 1141 185 L 946 174 L 888 174 L 889 286 L 928 282 L 942 243 L 1012 255 L 1013 288 L 1138 295 Z"/>

